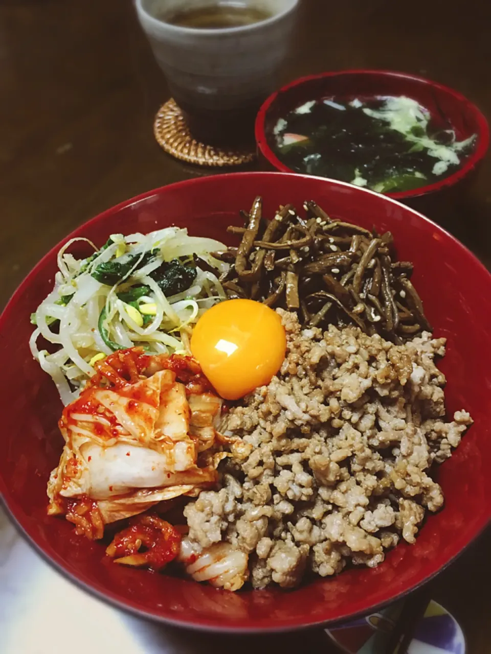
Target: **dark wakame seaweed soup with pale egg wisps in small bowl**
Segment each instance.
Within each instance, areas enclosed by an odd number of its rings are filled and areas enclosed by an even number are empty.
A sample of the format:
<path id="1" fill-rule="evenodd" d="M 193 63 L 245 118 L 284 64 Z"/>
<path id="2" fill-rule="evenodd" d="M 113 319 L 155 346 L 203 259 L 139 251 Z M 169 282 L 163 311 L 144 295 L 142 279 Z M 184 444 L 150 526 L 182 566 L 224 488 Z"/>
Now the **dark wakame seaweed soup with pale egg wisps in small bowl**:
<path id="1" fill-rule="evenodd" d="M 473 149 L 450 125 L 433 128 L 409 97 L 304 103 L 274 128 L 273 149 L 299 173 L 331 177 L 380 193 L 408 191 L 448 177 Z"/>

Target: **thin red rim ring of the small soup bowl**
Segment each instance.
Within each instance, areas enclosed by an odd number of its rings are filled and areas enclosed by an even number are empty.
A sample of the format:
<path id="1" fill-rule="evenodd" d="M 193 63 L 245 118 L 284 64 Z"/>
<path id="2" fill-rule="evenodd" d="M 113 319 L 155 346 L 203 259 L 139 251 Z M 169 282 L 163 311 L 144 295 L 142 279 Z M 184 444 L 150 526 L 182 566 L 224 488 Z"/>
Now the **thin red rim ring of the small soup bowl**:
<path id="1" fill-rule="evenodd" d="M 461 94 L 460 92 L 456 91 L 450 86 L 445 86 L 445 84 L 440 84 L 440 82 L 435 82 L 434 80 L 431 80 L 427 77 L 421 77 L 420 75 L 412 75 L 412 73 L 404 73 L 403 71 L 389 71 L 386 69 L 379 70 L 379 69 L 361 68 L 361 69 L 350 69 L 346 71 L 344 70 L 325 71 L 324 73 L 316 73 L 314 75 L 306 75 L 304 77 L 299 77 L 293 80 L 292 82 L 285 84 L 285 86 L 282 86 L 282 88 L 278 89 L 277 91 L 272 93 L 268 98 L 266 98 L 266 100 L 264 101 L 263 105 L 261 105 L 261 108 L 259 109 L 259 112 L 257 113 L 256 116 L 255 141 L 259 152 L 272 166 L 274 166 L 276 171 L 282 173 L 295 173 L 293 169 L 289 168 L 280 159 L 278 159 L 276 154 L 274 154 L 272 148 L 270 148 L 270 146 L 268 145 L 268 141 L 266 138 L 266 129 L 264 128 L 264 125 L 266 123 L 266 114 L 268 113 L 272 105 L 274 105 L 278 97 L 280 97 L 283 93 L 291 90 L 292 88 L 296 88 L 297 86 L 302 86 L 303 84 L 312 82 L 314 80 L 321 80 L 331 77 L 344 77 L 349 75 L 367 75 L 368 77 L 375 76 L 375 75 L 377 76 L 383 75 L 385 77 L 403 78 L 407 80 L 412 80 L 413 82 L 418 82 L 419 84 L 424 84 L 426 86 L 437 88 L 440 91 L 448 95 L 451 95 L 459 103 L 465 104 L 467 106 L 467 109 L 469 109 L 469 111 L 473 113 L 473 115 L 477 120 L 477 124 L 478 124 L 477 148 L 469 156 L 469 158 L 467 158 L 464 165 L 458 168 L 458 170 L 452 173 L 452 175 L 448 175 L 448 177 L 444 177 L 440 181 L 434 182 L 433 184 L 426 184 L 426 186 L 420 186 L 419 188 L 415 188 L 409 191 L 383 193 L 382 195 L 386 196 L 386 198 L 392 198 L 402 201 L 403 199 L 427 196 L 429 194 L 444 190 L 445 188 L 450 188 L 450 186 L 454 186 L 459 181 L 467 177 L 467 175 L 469 175 L 469 173 L 471 173 L 475 169 L 478 163 L 481 162 L 484 156 L 486 155 L 486 152 L 488 151 L 489 144 L 490 144 L 490 127 L 488 121 L 486 120 L 486 117 L 479 109 L 479 107 L 477 107 L 477 105 L 475 105 L 467 97 L 465 97 L 465 95 Z M 305 173 L 298 173 L 298 174 L 302 175 Z M 317 177 L 317 176 L 310 175 L 310 177 Z"/>

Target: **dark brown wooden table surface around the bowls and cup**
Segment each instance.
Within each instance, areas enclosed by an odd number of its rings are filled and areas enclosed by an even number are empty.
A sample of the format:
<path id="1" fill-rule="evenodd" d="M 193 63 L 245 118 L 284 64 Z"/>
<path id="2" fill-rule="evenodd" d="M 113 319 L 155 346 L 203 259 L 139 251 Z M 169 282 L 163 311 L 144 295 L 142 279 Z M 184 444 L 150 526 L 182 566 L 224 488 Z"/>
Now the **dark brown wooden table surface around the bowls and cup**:
<path id="1" fill-rule="evenodd" d="M 490 19 L 485 0 L 304 0 L 285 79 L 399 69 L 457 88 L 491 118 Z M 208 174 L 156 145 L 153 116 L 167 98 L 130 0 L 0 0 L 2 304 L 75 226 L 145 190 Z M 488 159 L 446 223 L 488 266 L 490 173 Z M 434 583 L 470 654 L 491 651 L 490 552 L 488 532 Z M 189 652 L 329 649 L 316 632 L 244 642 L 164 630 L 162 651 L 166 638 Z"/>

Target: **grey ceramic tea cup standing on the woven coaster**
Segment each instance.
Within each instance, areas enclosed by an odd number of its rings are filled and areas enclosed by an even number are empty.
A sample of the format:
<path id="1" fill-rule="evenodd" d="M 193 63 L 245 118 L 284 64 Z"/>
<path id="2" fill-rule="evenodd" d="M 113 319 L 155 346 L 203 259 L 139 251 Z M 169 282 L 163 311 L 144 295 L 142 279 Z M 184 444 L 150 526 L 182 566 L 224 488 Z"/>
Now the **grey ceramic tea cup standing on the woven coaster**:
<path id="1" fill-rule="evenodd" d="M 139 22 L 196 139 L 233 145 L 253 139 L 262 101 L 278 84 L 299 0 L 135 0 Z M 263 20 L 187 27 L 174 17 L 216 7 Z"/>

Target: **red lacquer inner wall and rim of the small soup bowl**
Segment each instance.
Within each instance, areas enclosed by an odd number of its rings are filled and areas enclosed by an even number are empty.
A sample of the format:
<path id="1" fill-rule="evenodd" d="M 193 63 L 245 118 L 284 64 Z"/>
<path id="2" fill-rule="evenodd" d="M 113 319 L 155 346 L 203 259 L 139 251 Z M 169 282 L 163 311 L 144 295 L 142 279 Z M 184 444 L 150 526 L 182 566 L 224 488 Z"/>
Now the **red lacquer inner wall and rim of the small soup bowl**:
<path id="1" fill-rule="evenodd" d="M 270 146 L 278 118 L 304 102 L 321 97 L 371 99 L 376 95 L 406 95 L 418 101 L 430 112 L 435 124 L 448 128 L 450 122 L 458 140 L 477 134 L 475 149 L 457 171 L 435 184 L 410 191 L 388 193 L 390 198 L 405 201 L 426 194 L 446 190 L 475 173 L 489 146 L 489 126 L 486 118 L 464 95 L 448 86 L 424 77 L 393 71 L 334 71 L 311 75 L 283 86 L 270 95 L 259 110 L 255 124 L 255 138 L 260 160 L 273 170 L 293 172 Z"/>

